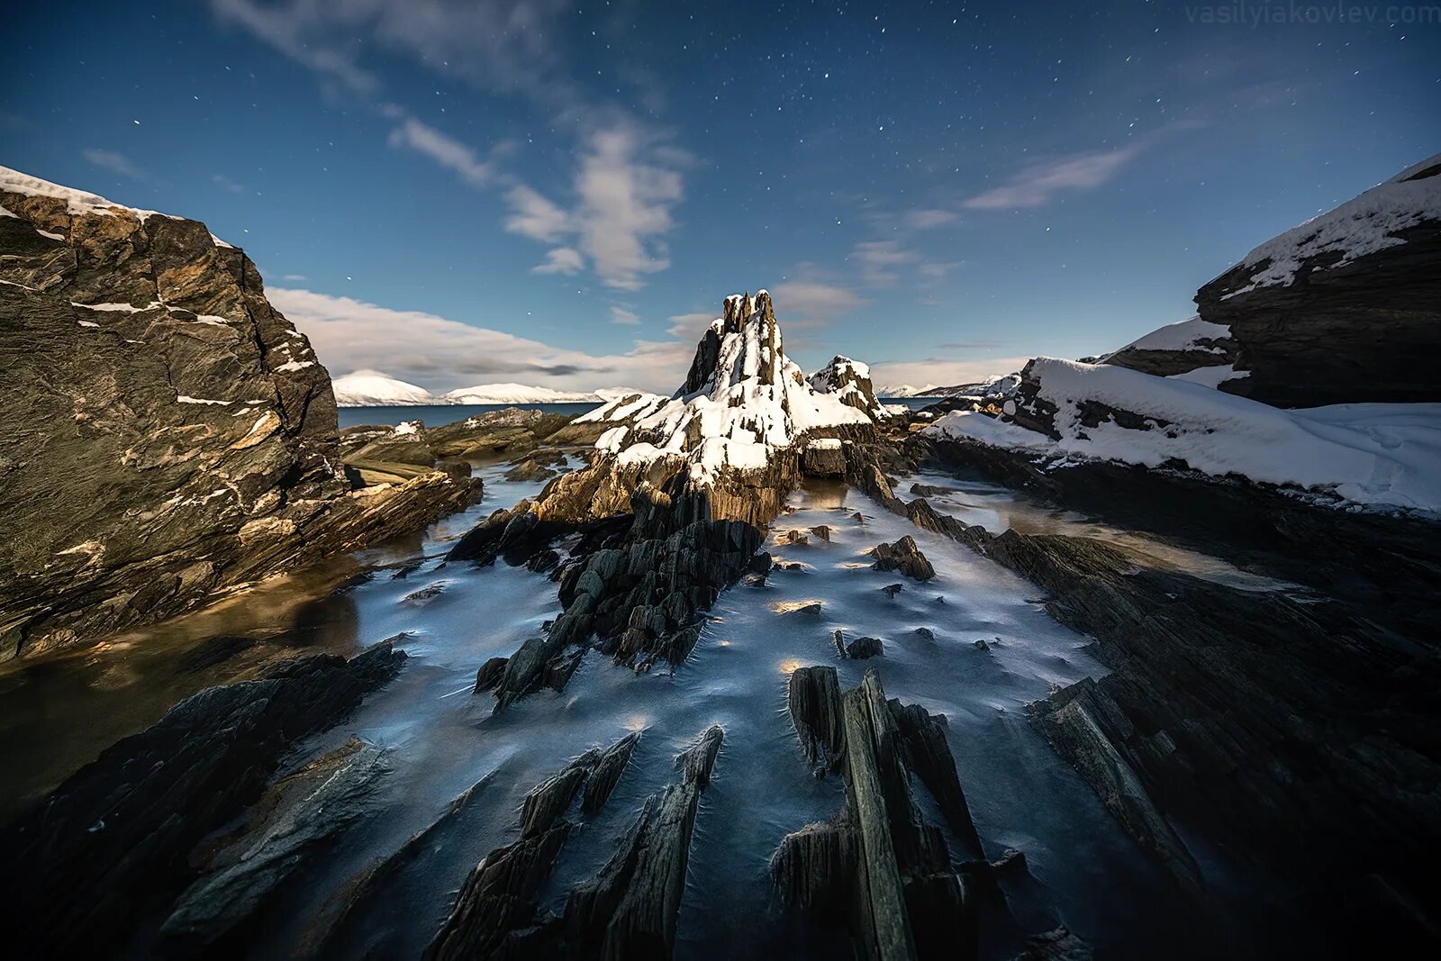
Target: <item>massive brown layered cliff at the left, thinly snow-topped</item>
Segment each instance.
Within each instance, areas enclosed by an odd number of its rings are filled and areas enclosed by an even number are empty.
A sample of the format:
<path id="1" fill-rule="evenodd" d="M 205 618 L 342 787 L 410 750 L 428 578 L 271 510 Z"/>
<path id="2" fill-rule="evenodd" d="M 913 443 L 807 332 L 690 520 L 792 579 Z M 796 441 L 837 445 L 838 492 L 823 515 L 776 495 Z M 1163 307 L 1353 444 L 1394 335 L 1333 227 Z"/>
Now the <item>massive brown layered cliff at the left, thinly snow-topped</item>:
<path id="1" fill-rule="evenodd" d="M 0 169 L 0 658 L 95 640 L 435 520 L 352 490 L 330 377 L 203 223 Z"/>

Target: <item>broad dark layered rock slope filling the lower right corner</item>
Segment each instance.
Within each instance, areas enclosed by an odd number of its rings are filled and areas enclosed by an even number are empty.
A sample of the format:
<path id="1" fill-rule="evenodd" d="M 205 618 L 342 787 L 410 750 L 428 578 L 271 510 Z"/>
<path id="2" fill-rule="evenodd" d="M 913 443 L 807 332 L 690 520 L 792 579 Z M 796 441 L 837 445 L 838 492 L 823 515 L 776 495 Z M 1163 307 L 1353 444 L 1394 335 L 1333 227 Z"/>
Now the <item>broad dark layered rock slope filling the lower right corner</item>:
<path id="1" fill-rule="evenodd" d="M 1112 673 L 1027 715 L 1203 909 L 1210 886 L 1177 818 L 1242 869 L 1278 879 L 1268 909 L 1308 919 L 1297 949 L 1437 944 L 1421 893 L 1422 852 L 1441 843 L 1441 755 L 1428 733 L 1441 683 L 1425 599 L 1435 588 L 1422 586 L 1441 578 L 1434 536 L 1392 524 L 1398 537 L 1382 546 L 1363 535 L 1386 526 L 1324 524 L 1355 546 L 1333 545 L 1334 559 L 1313 550 L 1308 563 L 1334 571 L 1375 556 L 1425 592 L 1388 605 L 1241 589 L 1091 537 L 991 535 L 925 500 L 888 506 L 1027 578 L 1052 617 L 1097 638 Z M 1293 944 L 1297 926 L 1281 924 Z"/>

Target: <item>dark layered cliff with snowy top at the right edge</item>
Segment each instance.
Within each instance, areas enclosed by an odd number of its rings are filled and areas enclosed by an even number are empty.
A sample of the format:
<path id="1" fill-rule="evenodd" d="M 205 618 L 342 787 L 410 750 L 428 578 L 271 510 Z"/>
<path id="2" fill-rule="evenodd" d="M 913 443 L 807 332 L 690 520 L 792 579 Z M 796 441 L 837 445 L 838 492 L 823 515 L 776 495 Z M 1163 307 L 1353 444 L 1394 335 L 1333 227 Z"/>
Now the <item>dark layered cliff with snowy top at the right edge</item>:
<path id="1" fill-rule="evenodd" d="M 1288 408 L 1441 401 L 1441 154 L 1267 241 L 1196 304 L 1196 337 L 1163 327 L 1107 363 Z"/>

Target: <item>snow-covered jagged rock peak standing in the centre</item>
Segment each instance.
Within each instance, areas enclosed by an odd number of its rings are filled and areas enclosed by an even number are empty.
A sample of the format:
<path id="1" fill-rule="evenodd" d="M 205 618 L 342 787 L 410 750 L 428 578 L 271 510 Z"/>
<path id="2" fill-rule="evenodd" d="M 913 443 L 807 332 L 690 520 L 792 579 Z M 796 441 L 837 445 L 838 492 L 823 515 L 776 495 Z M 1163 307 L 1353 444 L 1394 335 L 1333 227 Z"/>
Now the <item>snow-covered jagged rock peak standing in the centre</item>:
<path id="1" fill-rule="evenodd" d="M 869 377 L 865 385 L 869 393 Z M 595 447 L 621 467 L 683 461 L 692 480 L 708 483 L 725 468 L 762 470 L 810 438 L 866 429 L 878 416 L 873 396 L 860 408 L 811 385 L 785 356 L 771 295 L 759 291 L 726 297 L 673 396 L 620 396 L 579 421 L 612 425 Z"/>

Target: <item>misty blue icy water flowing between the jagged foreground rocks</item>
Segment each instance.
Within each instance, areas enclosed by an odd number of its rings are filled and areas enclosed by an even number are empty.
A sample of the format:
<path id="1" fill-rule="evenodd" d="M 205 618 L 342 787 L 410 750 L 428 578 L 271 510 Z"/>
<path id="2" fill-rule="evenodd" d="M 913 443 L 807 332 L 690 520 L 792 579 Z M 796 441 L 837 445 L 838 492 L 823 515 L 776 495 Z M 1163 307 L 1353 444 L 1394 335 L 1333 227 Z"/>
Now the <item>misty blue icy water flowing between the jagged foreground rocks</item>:
<path id="1" fill-rule="evenodd" d="M 791 497 L 793 511 L 772 524 L 768 545 L 778 560 L 800 569 L 725 592 L 684 666 L 635 674 L 592 651 L 563 693 L 545 690 L 493 715 L 493 697 L 471 693 L 476 670 L 490 657 L 512 654 L 561 611 L 555 584 L 543 575 L 500 562 L 473 568 L 442 560 L 480 517 L 537 493 L 539 484 L 506 481 L 504 470 L 483 468 L 484 503 L 424 539 L 367 552 L 324 576 L 264 585 L 220 611 L 105 648 L 0 676 L 0 738 L 12 746 L 33 745 L 13 761 L 19 778 L 6 810 L 33 800 L 208 683 L 248 676 L 297 650 L 350 654 L 403 633 L 409 660 L 402 673 L 297 758 L 327 751 L 352 732 L 386 746 L 391 772 L 382 800 L 256 918 L 252 929 L 262 934 L 252 957 L 291 954 L 347 879 L 483 782 L 450 830 L 346 922 L 333 952 L 416 957 L 470 867 L 517 839 L 526 792 L 581 752 L 641 730 L 615 794 L 561 853 L 546 895 L 559 908 L 566 892 L 617 850 L 644 798 L 673 782 L 674 755 L 712 723 L 725 729 L 725 743 L 702 795 L 676 957 L 844 957 L 849 948 L 839 932 L 782 912 L 771 893 L 769 859 L 780 840 L 830 818 L 844 797 L 840 778 L 817 779 L 801 755 L 785 705 L 787 679 L 801 666 L 831 664 L 852 687 L 866 667 L 876 667 L 888 696 L 947 715 L 987 854 L 1023 850 L 1038 882 L 1012 892 L 1029 932 L 1063 922 L 1107 957 L 1176 957 L 1172 888 L 1025 719 L 1023 706 L 1053 686 L 1105 673 L 1084 650 L 1088 638 L 1046 615 L 1035 586 L 844 486 L 814 483 Z M 955 488 L 938 496 L 937 506 L 994 530 L 1087 526 L 996 486 L 927 474 L 905 478 L 898 491 L 909 496 L 911 483 Z M 811 535 L 808 545 L 775 543 L 787 530 L 821 524 L 830 529 L 829 542 Z M 870 547 L 904 535 L 912 535 L 935 566 L 934 581 L 921 585 L 869 568 Z M 1205 566 L 1213 559 L 1173 560 Z M 334 591 L 336 582 L 376 565 L 367 581 Z M 896 582 L 904 589 L 889 598 L 880 588 Z M 442 589 L 429 599 L 412 596 L 432 585 Z M 810 601 L 821 601 L 818 615 L 795 609 Z M 879 637 L 885 654 L 843 660 L 831 641 L 836 630 L 847 641 Z M 202 643 L 213 634 L 264 640 L 220 664 L 195 669 L 195 651 L 215 644 Z M 101 716 L 107 723 L 94 723 Z M 953 850 L 961 850 L 954 840 Z M 1010 957 L 1006 951 L 1014 947 L 997 945 L 994 954 Z"/>

